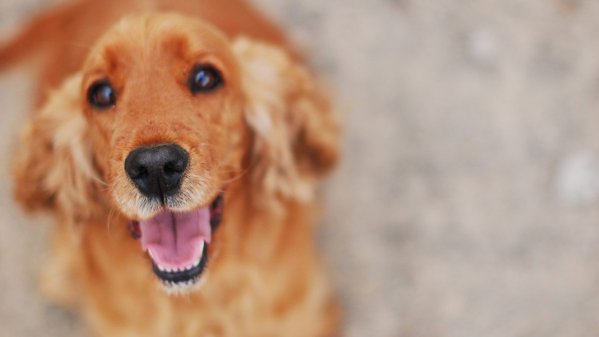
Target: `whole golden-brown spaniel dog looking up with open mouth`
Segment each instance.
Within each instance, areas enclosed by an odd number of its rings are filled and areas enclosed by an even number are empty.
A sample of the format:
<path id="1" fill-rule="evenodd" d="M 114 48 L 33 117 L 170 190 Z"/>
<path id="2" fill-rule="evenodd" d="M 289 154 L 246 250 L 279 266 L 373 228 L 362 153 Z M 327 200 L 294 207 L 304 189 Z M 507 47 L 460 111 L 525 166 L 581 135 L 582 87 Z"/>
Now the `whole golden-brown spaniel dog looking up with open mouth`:
<path id="1" fill-rule="evenodd" d="M 41 289 L 98 336 L 336 336 L 313 238 L 328 98 L 239 0 L 78 1 L 0 47 L 38 70 L 14 194 L 56 218 Z"/>

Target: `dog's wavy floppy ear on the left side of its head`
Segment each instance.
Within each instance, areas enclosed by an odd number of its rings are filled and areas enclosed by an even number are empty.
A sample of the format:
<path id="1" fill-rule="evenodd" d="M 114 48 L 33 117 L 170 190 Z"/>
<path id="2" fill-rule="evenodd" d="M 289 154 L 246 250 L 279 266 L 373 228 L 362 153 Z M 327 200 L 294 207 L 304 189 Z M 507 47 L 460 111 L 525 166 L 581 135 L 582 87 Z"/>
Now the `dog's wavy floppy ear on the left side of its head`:
<path id="1" fill-rule="evenodd" d="M 58 209 L 74 222 L 98 207 L 95 174 L 81 112 L 81 76 L 66 80 L 23 130 L 13 167 L 14 194 L 28 210 Z"/>

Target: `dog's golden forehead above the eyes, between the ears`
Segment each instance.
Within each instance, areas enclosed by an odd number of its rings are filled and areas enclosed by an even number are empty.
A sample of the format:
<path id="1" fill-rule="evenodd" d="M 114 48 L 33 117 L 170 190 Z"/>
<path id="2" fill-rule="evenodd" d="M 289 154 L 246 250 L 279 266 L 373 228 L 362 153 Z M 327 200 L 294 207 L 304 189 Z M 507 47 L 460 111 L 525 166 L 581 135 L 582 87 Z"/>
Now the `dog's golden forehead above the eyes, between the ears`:
<path id="1" fill-rule="evenodd" d="M 140 64 L 232 61 L 226 37 L 207 23 L 177 14 L 128 17 L 113 26 L 90 53 L 86 67 L 114 71 Z"/>

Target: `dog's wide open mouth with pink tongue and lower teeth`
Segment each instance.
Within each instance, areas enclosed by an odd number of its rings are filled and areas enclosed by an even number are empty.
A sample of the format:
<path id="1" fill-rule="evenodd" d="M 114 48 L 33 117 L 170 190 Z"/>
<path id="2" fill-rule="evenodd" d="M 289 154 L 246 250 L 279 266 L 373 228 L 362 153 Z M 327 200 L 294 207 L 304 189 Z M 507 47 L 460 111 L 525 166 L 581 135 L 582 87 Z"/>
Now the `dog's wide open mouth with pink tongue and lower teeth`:
<path id="1" fill-rule="evenodd" d="M 152 269 L 167 286 L 192 285 L 208 263 L 208 245 L 220 223 L 223 198 L 184 213 L 164 209 L 150 219 L 132 221 L 132 234 L 141 237 Z"/>

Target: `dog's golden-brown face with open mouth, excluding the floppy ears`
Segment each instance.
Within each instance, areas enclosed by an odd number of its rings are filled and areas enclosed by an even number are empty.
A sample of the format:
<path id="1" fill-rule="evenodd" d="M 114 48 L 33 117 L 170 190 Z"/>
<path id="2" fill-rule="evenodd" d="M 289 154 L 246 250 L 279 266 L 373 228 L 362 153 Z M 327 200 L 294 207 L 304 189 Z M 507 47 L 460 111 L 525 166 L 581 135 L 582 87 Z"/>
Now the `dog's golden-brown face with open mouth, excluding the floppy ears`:
<path id="1" fill-rule="evenodd" d="M 191 284 L 247 139 L 228 41 L 196 20 L 127 20 L 90 53 L 81 97 L 110 199 L 139 226 L 156 275 Z"/>

